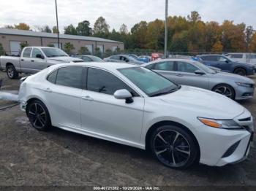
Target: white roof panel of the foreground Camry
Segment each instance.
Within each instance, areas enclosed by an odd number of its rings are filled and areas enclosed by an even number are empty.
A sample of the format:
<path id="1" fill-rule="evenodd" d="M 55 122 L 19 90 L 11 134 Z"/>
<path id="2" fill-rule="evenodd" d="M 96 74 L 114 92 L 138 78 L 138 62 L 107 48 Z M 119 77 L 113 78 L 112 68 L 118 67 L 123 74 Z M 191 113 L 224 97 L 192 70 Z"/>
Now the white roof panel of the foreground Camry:
<path id="1" fill-rule="evenodd" d="M 127 63 L 117 63 L 117 62 L 79 62 L 79 63 L 59 63 L 53 66 L 50 66 L 51 69 L 57 69 L 61 66 L 91 66 L 99 69 L 105 69 L 108 71 L 116 71 L 117 69 L 132 68 L 136 67 L 135 65 Z"/>

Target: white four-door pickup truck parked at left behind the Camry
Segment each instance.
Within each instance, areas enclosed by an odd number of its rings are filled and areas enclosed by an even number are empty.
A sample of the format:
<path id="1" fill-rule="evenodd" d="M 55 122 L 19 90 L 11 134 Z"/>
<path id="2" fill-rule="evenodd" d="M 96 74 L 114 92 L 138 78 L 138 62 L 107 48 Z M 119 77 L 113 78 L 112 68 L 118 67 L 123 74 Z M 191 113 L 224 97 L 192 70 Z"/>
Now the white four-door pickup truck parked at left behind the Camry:
<path id="1" fill-rule="evenodd" d="M 19 73 L 34 74 L 57 63 L 83 62 L 72 58 L 64 51 L 55 47 L 25 47 L 20 57 L 0 56 L 0 69 L 7 71 L 10 79 L 18 77 Z"/>

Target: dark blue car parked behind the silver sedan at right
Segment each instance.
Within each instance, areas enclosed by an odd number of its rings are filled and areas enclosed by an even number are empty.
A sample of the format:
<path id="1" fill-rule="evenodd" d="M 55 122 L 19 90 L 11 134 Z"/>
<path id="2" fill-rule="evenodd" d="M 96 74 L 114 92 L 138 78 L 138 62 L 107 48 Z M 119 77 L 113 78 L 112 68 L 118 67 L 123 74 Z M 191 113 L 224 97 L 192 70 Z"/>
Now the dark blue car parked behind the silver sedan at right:
<path id="1" fill-rule="evenodd" d="M 222 71 L 241 76 L 255 74 L 255 69 L 253 66 L 247 63 L 234 62 L 225 55 L 197 55 L 197 58 L 200 62 L 206 64 L 207 66 L 214 66 L 222 69 Z"/>

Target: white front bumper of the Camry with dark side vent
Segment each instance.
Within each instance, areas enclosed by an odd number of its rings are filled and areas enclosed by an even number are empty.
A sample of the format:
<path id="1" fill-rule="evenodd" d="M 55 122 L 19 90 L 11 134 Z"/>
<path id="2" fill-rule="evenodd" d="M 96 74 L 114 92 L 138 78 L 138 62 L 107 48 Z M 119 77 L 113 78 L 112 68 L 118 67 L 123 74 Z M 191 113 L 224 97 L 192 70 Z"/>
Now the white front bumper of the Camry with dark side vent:
<path id="1" fill-rule="evenodd" d="M 250 118 L 249 118 L 250 117 Z M 200 163 L 222 166 L 245 160 L 252 144 L 253 125 L 251 114 L 245 110 L 233 120 L 244 126 L 243 130 L 227 130 L 200 126 Z"/>

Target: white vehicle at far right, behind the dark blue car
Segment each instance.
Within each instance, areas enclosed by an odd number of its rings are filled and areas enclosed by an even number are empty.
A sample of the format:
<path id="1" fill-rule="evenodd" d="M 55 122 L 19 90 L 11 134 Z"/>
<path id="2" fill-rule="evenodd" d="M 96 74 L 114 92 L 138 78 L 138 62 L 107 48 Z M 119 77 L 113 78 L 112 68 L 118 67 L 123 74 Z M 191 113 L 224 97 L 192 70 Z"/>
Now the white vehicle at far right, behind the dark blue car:
<path id="1" fill-rule="evenodd" d="M 228 58 L 241 63 L 249 63 L 256 69 L 256 54 L 255 53 L 227 53 Z"/>

